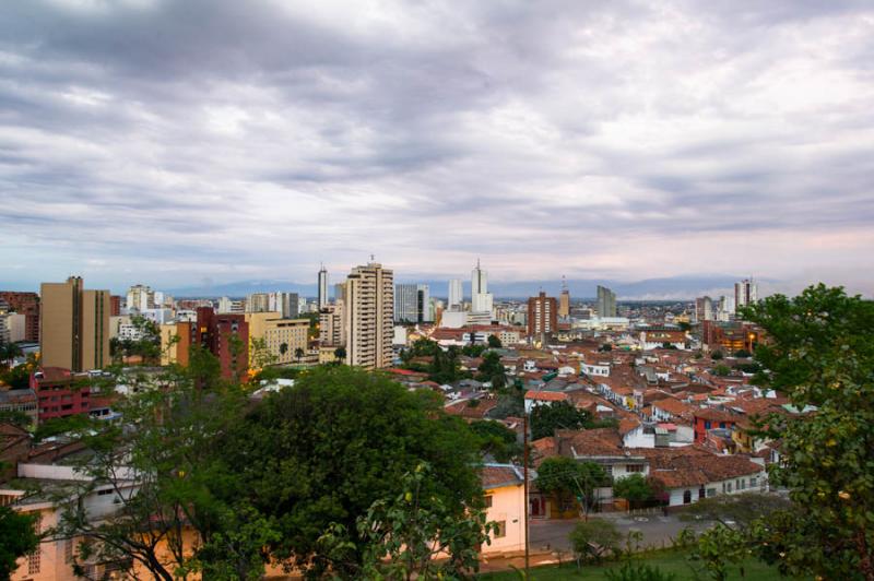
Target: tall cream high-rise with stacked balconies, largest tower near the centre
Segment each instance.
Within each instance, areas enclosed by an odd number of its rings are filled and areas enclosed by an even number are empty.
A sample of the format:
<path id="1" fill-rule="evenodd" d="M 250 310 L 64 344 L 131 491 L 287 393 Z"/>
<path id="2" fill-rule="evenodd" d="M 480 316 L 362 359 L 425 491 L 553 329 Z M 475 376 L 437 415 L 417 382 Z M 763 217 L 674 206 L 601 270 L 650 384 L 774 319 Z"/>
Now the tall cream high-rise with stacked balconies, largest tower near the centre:
<path id="1" fill-rule="evenodd" d="M 344 328 L 346 363 L 367 369 L 391 365 L 394 274 L 377 262 L 356 266 L 346 277 Z"/>

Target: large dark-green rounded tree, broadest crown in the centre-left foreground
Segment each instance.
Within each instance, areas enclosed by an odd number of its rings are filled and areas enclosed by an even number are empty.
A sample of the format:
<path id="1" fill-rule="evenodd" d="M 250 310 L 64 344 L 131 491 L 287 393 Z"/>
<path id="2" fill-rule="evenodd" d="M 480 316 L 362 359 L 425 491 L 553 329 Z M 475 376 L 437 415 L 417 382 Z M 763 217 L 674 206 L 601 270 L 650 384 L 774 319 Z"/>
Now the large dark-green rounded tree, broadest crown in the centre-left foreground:
<path id="1" fill-rule="evenodd" d="M 239 475 L 235 497 L 274 520 L 272 556 L 308 574 L 331 568 L 356 578 L 371 540 L 357 527 L 375 501 L 403 491 L 403 475 L 433 466 L 426 496 L 461 518 L 481 501 L 476 438 L 442 412 L 432 392 L 410 392 L 380 374 L 322 366 L 270 394 L 214 448 Z M 231 494 L 228 491 L 228 494 Z M 333 524 L 347 534 L 343 558 L 320 537 Z"/>

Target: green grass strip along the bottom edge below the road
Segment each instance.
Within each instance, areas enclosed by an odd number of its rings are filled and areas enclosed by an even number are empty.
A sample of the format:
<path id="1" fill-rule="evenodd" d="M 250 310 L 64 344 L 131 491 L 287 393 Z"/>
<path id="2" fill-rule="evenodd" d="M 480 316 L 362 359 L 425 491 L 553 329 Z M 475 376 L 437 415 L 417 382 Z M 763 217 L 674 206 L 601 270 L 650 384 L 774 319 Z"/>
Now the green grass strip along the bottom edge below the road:
<path id="1" fill-rule="evenodd" d="M 642 555 L 636 557 L 636 561 L 646 562 L 652 567 L 658 567 L 665 573 L 674 573 L 677 580 L 695 580 L 695 573 L 689 568 L 686 561 L 686 553 L 680 550 L 665 550 L 651 555 Z M 610 569 L 617 569 L 622 567 L 621 562 L 610 562 L 601 566 L 588 565 L 581 569 L 577 569 L 575 562 L 564 564 L 562 567 L 557 565 L 546 565 L 543 567 L 531 568 L 532 581 L 548 581 L 552 579 L 606 579 L 604 572 Z M 729 569 L 730 580 L 744 580 L 744 581 L 771 581 L 778 579 L 787 579 L 780 577 L 775 567 L 765 565 L 756 559 L 747 559 L 743 564 L 744 577 L 741 577 L 739 567 L 731 567 Z M 501 571 L 499 573 L 484 573 L 480 579 L 489 581 L 519 581 L 521 579 L 516 571 Z M 706 577 L 705 577 L 706 579 Z"/>

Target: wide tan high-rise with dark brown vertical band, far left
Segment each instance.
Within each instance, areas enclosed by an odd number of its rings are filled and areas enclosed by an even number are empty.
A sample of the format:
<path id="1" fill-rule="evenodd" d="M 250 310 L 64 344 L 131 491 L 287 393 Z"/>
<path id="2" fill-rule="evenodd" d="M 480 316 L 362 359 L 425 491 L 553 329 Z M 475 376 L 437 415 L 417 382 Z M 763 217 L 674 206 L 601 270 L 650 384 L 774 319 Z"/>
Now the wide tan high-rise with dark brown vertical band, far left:
<path id="1" fill-rule="evenodd" d="M 109 290 L 86 290 L 80 276 L 40 287 L 43 367 L 71 371 L 109 365 Z"/>

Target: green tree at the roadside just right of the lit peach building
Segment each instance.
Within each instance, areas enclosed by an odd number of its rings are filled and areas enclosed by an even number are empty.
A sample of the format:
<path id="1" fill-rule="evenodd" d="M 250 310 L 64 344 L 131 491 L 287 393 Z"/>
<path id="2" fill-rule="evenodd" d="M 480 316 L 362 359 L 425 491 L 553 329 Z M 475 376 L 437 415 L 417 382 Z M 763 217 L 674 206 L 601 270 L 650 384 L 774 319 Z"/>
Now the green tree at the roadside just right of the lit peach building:
<path id="1" fill-rule="evenodd" d="M 594 462 L 554 456 L 541 463 L 535 483 L 540 490 L 555 497 L 562 510 L 576 503 L 588 515 L 598 502 L 595 489 L 610 486 L 610 477 Z"/>

